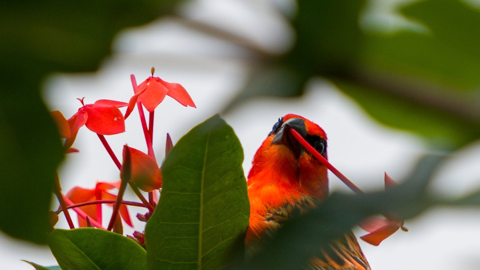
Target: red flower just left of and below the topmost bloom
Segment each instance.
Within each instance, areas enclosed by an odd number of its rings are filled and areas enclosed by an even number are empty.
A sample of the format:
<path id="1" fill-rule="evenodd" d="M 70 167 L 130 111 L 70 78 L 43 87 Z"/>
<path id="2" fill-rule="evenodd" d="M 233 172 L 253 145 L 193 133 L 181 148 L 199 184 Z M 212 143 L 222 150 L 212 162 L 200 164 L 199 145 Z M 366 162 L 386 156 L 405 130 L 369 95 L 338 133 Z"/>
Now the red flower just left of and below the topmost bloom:
<path id="1" fill-rule="evenodd" d="M 84 105 L 68 120 L 72 134 L 83 125 L 100 135 L 114 135 L 125 132 L 125 119 L 118 108 L 128 106 L 126 102 L 100 99 L 94 104 Z"/>

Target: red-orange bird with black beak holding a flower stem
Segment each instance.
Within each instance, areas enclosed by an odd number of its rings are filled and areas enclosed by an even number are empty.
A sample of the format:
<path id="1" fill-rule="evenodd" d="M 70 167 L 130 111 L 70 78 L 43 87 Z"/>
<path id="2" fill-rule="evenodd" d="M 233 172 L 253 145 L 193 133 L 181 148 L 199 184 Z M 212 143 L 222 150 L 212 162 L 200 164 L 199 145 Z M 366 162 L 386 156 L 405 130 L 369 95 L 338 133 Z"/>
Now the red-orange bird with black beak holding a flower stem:
<path id="1" fill-rule="evenodd" d="M 257 150 L 248 175 L 250 225 L 247 257 L 264 245 L 283 221 L 304 213 L 328 196 L 327 169 L 290 134 L 296 130 L 327 158 L 324 130 L 295 114 L 280 118 Z M 312 258 L 309 269 L 370 270 L 353 233 L 346 233 Z"/>

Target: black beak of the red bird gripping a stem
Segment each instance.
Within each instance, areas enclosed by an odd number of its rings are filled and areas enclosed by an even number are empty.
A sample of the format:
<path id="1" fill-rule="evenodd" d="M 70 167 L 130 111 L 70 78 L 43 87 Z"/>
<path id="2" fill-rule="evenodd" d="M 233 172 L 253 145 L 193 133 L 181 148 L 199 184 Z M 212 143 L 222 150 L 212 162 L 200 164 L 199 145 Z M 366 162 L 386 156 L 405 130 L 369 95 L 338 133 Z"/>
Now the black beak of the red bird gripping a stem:
<path id="1" fill-rule="evenodd" d="M 301 145 L 290 133 L 290 128 L 297 131 L 302 137 L 307 136 L 307 127 L 305 122 L 300 118 L 291 118 L 282 124 L 281 128 L 275 134 L 272 140 L 272 144 L 283 144 L 289 147 L 297 157 L 301 154 Z"/>

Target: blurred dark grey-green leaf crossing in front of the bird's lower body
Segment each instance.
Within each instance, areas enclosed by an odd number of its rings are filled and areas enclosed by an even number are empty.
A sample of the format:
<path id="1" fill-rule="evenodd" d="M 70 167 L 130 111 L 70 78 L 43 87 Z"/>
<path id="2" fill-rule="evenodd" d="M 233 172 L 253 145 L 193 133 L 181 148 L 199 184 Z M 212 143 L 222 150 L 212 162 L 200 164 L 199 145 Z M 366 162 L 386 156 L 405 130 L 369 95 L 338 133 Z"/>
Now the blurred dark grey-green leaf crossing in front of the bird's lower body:
<path id="1" fill-rule="evenodd" d="M 244 269 L 302 269 L 321 247 L 368 216 L 392 211 L 401 219 L 418 215 L 431 206 L 426 186 L 441 159 L 426 156 L 405 183 L 385 192 L 332 194 L 319 208 L 288 221 Z"/>

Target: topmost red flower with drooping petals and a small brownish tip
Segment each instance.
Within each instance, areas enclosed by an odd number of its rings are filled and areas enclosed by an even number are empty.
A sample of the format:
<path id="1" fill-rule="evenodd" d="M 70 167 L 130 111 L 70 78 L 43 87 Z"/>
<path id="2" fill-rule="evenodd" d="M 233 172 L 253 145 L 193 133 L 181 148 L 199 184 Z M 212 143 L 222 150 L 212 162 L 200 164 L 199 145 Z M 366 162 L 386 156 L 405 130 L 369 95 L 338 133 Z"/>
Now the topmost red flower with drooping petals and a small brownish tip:
<path id="1" fill-rule="evenodd" d="M 148 77 L 146 80 L 144 80 L 143 83 L 141 83 L 134 89 L 135 95 L 133 95 L 133 97 L 129 101 L 129 106 L 127 112 L 125 113 L 125 118 L 127 118 L 132 112 L 133 107 L 137 102 L 137 98 L 140 98 L 140 102 L 150 112 L 153 112 L 156 106 L 158 106 L 158 104 L 160 104 L 160 102 L 162 102 L 167 95 L 177 100 L 178 102 L 180 102 L 181 105 L 185 107 L 190 106 L 193 108 L 197 108 L 195 106 L 195 103 L 193 103 L 192 98 L 187 93 L 187 90 L 185 90 L 183 86 L 177 83 L 166 82 L 159 77 L 154 77 L 154 71 L 155 69 L 152 68 L 152 76 Z"/>

